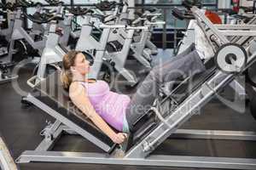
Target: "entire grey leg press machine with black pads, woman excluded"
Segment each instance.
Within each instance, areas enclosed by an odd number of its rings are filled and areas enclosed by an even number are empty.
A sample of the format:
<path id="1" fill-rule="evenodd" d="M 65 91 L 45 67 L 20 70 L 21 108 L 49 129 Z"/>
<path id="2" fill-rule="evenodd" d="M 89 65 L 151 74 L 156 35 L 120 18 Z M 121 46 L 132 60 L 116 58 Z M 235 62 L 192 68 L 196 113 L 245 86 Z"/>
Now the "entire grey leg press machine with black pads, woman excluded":
<path id="1" fill-rule="evenodd" d="M 234 33 L 237 37 L 256 37 L 253 26 L 248 31 L 240 30 L 234 26 L 222 26 L 219 30 L 212 25 L 211 21 L 201 13 L 199 8 L 193 7 L 191 11 L 195 15 L 198 25 L 206 33 L 207 38 L 214 37 L 212 41 L 218 45 L 215 49 L 230 43 L 227 37 Z M 242 28 L 242 26 L 238 26 Z M 249 27 L 249 26 L 246 26 Z M 224 30 L 224 31 L 221 31 Z M 237 31 L 240 30 L 240 31 Z M 249 35 L 249 36 L 248 36 Z M 247 42 L 246 40 L 244 42 Z M 247 44 L 247 45 L 245 45 Z M 248 43 L 240 43 L 239 49 L 243 51 L 250 46 Z M 215 47 L 215 46 L 214 46 Z M 228 46 L 226 46 L 228 47 Z M 230 46 L 233 48 L 233 46 Z M 230 51 L 229 49 L 227 49 Z M 220 54 L 220 53 L 219 53 Z M 236 54 L 235 54 L 236 55 Z M 220 56 L 219 56 L 220 57 Z M 226 57 L 225 55 L 223 56 Z M 238 57 L 234 58 L 239 59 Z M 250 65 L 253 65 L 256 53 L 248 54 L 246 65 L 239 73 L 243 73 Z M 212 58 L 212 61 L 213 58 Z M 232 62 L 231 62 L 232 63 Z M 234 62 L 236 65 L 236 62 Z M 207 131 L 207 130 L 181 130 L 178 129 L 184 122 L 206 105 L 220 90 L 232 82 L 237 72 L 224 72 L 218 70 L 214 62 L 206 63 L 207 71 L 193 77 L 193 87 L 186 95 L 176 95 L 183 93 L 187 89 L 189 77 L 172 91 L 172 94 L 164 99 L 156 99 L 152 109 L 141 116 L 131 128 L 131 135 L 127 141 L 126 150 L 123 154 L 117 148 L 117 144 L 108 139 L 104 133 L 98 130 L 89 119 L 79 110 L 76 110 L 72 102 L 68 99 L 67 92 L 62 88 L 60 82 L 60 72 L 50 75 L 41 85 L 36 88 L 35 94 L 29 94 L 27 98 L 32 104 L 55 117 L 54 124 L 49 124 L 44 128 L 44 140 L 38 145 L 36 150 L 27 150 L 16 160 L 19 163 L 31 161 L 50 162 L 75 162 L 75 163 L 96 163 L 96 164 L 119 164 L 137 166 L 164 166 L 164 167 L 204 167 L 222 169 L 255 169 L 256 161 L 250 158 L 230 158 L 211 156 L 163 156 L 154 155 L 154 150 L 165 141 L 170 135 L 183 139 L 227 139 L 227 140 L 256 140 L 255 132 L 236 131 Z M 58 82 L 53 81 L 58 80 Z M 40 87 L 41 86 L 41 87 Z M 39 94 L 38 94 L 39 93 Z M 40 93 L 44 95 L 40 95 Z M 44 96 L 44 97 L 43 97 Z M 71 109 L 72 108 L 72 109 Z M 68 151 L 49 151 L 57 139 L 60 139 L 62 132 L 69 134 L 78 133 L 88 139 L 99 148 L 106 151 L 102 153 L 78 153 Z"/>

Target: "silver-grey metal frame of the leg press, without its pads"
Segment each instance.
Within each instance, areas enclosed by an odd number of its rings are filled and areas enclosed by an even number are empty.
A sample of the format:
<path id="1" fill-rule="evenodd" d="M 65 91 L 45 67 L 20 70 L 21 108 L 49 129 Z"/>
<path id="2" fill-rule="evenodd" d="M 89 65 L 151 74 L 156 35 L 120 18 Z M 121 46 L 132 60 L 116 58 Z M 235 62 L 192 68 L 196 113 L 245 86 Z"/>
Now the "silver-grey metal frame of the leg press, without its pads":
<path id="1" fill-rule="evenodd" d="M 228 39 L 225 35 L 230 35 L 227 31 L 218 31 L 216 26 L 207 20 L 201 14 L 198 8 L 192 8 L 193 14 L 198 18 L 201 26 L 211 30 L 218 40 L 225 44 Z M 225 28 L 226 29 L 226 28 Z M 239 33 L 240 32 L 240 33 Z M 255 31 L 236 31 L 237 36 L 249 35 L 255 37 Z M 247 65 L 241 71 L 252 65 L 256 59 L 256 53 L 247 58 Z M 73 163 L 94 163 L 94 164 L 119 164 L 119 165 L 142 165 L 142 166 L 163 166 L 163 167 L 207 167 L 207 168 L 226 168 L 226 169 L 256 169 L 256 159 L 249 158 L 230 158 L 230 157 L 209 157 L 209 156 L 162 156 L 154 155 L 152 152 L 171 134 L 174 137 L 182 137 L 187 139 L 238 139 L 255 141 L 256 133 L 254 132 L 238 132 L 238 131 L 201 131 L 201 130 L 178 130 L 178 127 L 188 121 L 195 114 L 198 108 L 206 105 L 214 94 L 232 82 L 236 74 L 229 74 L 217 70 L 207 82 L 201 84 L 199 88 L 186 98 L 183 103 L 177 106 L 171 115 L 161 117 L 158 109 L 153 107 L 156 116 L 159 116 L 161 122 L 158 127 L 148 133 L 146 137 L 133 145 L 124 156 L 117 156 L 115 150 L 111 154 L 101 153 L 79 153 L 67 151 L 49 151 L 59 139 L 62 132 L 70 134 L 84 133 L 73 122 L 61 116 L 58 112 L 45 105 L 42 101 L 29 95 L 27 99 L 32 104 L 37 105 L 40 109 L 47 112 L 50 116 L 56 118 L 54 124 L 49 125 L 44 130 L 44 140 L 38 145 L 36 150 L 27 150 L 21 154 L 16 160 L 19 163 L 30 161 L 50 161 L 50 162 L 73 162 Z M 96 146 L 104 149 L 103 145 L 92 138 L 92 135 L 82 135 L 84 138 L 92 141 Z"/>

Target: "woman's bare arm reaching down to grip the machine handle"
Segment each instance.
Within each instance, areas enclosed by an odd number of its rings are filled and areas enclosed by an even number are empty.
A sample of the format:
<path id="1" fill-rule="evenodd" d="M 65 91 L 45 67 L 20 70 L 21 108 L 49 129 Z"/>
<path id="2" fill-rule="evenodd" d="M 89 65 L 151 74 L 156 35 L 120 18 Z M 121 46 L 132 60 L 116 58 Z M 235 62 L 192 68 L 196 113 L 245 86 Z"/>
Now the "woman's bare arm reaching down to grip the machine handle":
<path id="1" fill-rule="evenodd" d="M 96 127 L 99 127 L 103 133 L 107 134 L 114 143 L 121 144 L 125 141 L 125 133 L 115 133 L 108 123 L 105 122 L 101 116 L 99 116 L 90 100 L 87 96 L 86 89 L 79 84 L 79 82 L 73 82 L 69 88 L 69 97 L 73 101 L 80 111 L 83 111 L 84 115 L 88 116 Z"/>

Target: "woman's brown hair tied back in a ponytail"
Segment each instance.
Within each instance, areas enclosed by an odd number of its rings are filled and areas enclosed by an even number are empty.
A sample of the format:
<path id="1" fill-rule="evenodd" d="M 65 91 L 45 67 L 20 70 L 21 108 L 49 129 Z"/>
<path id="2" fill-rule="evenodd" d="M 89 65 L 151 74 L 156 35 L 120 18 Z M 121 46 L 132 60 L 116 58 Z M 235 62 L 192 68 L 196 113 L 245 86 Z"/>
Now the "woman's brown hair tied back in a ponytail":
<path id="1" fill-rule="evenodd" d="M 80 51 L 71 50 L 64 55 L 62 59 L 62 71 L 61 71 L 61 82 L 65 89 L 68 89 L 72 80 L 73 75 L 70 70 L 71 66 L 74 66 L 75 59 L 77 54 L 81 53 Z"/>

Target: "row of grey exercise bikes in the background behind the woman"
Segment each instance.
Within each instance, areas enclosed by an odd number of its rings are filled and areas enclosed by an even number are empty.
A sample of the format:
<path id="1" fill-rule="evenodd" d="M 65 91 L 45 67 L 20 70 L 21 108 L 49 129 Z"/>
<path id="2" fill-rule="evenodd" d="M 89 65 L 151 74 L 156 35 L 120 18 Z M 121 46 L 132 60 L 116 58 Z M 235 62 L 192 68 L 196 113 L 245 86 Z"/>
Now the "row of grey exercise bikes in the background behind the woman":
<path id="1" fill-rule="evenodd" d="M 46 0 L 51 8 L 42 3 L 18 0 L 16 3 L 1 3 L 1 14 L 9 16 L 9 26 L 0 30 L 1 54 L 8 55 L 8 61 L 2 62 L 0 82 L 16 78 L 10 74 L 10 67 L 27 56 L 39 56 L 40 61 L 33 71 L 28 84 L 34 87 L 51 70 L 58 69 L 58 62 L 70 49 L 76 49 L 93 60 L 91 78 L 98 78 L 104 66 L 104 78 L 108 78 L 114 69 L 125 77 L 130 86 L 138 80 L 125 68 L 129 55 L 145 67 L 151 69 L 151 60 L 158 49 L 150 41 L 154 26 L 164 25 L 159 21 L 160 13 L 155 8 L 146 8 L 143 13 L 129 18 L 126 2 L 102 1 L 93 8 L 68 7 L 59 0 Z M 28 8 L 36 8 L 34 14 L 28 14 Z M 32 28 L 26 29 L 26 20 L 32 22 Z M 78 24 L 75 20 L 81 20 Z M 1 25 L 2 25 L 1 24 Z M 79 28 L 79 29 L 78 29 Z M 77 40 L 73 43 L 72 40 Z M 111 70 L 111 71 L 110 71 Z"/>

